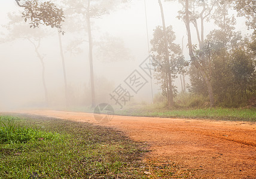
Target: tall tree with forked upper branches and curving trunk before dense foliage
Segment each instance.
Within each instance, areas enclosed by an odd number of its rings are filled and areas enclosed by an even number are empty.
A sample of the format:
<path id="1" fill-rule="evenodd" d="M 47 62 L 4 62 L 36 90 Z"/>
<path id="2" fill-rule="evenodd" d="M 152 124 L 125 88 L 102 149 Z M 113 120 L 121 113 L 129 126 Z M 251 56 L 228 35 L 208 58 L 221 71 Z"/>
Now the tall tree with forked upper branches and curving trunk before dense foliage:
<path id="1" fill-rule="evenodd" d="M 173 0 L 167 0 L 167 1 L 173 1 Z M 202 75 L 206 87 L 208 88 L 208 95 L 209 100 L 211 103 L 211 107 L 215 105 L 214 101 L 214 92 L 212 90 L 212 84 L 211 84 L 211 76 L 209 75 L 209 72 L 205 69 L 211 69 L 211 63 L 205 63 L 205 55 L 203 53 L 200 53 L 200 51 L 203 51 L 203 48 L 205 46 L 205 21 L 209 20 L 209 17 L 212 13 L 212 10 L 215 7 L 215 4 L 217 3 L 217 0 L 205 0 L 205 1 L 196 1 L 196 0 L 186 0 L 185 3 L 182 0 L 179 0 L 179 3 L 183 6 L 183 10 L 179 11 L 178 18 L 184 21 L 185 27 L 187 29 L 187 36 L 188 36 L 188 49 L 189 49 L 189 55 L 190 55 L 190 61 L 193 66 L 196 67 L 196 69 L 200 72 Z M 199 22 L 198 22 L 199 21 Z M 193 24 L 194 29 L 196 30 L 197 35 L 197 42 L 198 42 L 198 48 L 197 54 L 195 53 L 195 50 L 197 49 L 197 45 L 192 44 L 191 39 L 191 27 L 190 23 Z M 200 30 L 199 30 L 199 23 L 200 23 Z"/>

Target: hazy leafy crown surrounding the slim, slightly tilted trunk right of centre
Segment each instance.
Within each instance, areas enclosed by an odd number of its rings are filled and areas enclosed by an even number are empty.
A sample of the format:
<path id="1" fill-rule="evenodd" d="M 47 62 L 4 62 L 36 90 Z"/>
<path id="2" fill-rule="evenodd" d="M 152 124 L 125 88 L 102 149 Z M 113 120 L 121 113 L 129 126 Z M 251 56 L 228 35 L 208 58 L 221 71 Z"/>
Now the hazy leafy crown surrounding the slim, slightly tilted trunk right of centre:
<path id="1" fill-rule="evenodd" d="M 165 31 L 163 27 L 157 26 L 153 35 L 151 52 L 155 59 L 156 79 L 161 85 L 163 95 L 167 98 L 168 106 L 172 107 L 175 95 L 173 79 L 177 78 L 178 73 L 182 73 L 187 63 L 179 45 L 173 43 L 176 36 L 172 26 L 167 26 Z"/>

